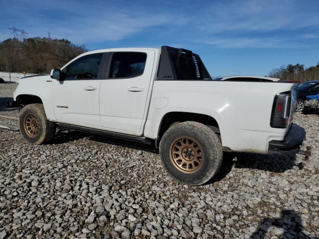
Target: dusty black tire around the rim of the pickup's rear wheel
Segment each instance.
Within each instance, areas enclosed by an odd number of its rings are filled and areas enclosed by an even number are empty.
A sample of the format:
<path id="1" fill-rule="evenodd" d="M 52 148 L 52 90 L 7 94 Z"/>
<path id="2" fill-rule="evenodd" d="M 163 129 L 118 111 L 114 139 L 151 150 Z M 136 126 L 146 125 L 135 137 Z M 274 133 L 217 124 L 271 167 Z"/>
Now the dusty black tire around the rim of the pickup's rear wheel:
<path id="1" fill-rule="evenodd" d="M 172 159 L 171 155 L 174 152 L 172 145 L 183 138 L 193 139 L 202 149 L 203 160 L 197 171 L 183 172 Z M 171 177 L 181 183 L 201 185 L 218 172 L 223 151 L 220 139 L 211 128 L 199 122 L 186 121 L 172 125 L 164 133 L 160 140 L 160 158 L 163 167 Z"/>

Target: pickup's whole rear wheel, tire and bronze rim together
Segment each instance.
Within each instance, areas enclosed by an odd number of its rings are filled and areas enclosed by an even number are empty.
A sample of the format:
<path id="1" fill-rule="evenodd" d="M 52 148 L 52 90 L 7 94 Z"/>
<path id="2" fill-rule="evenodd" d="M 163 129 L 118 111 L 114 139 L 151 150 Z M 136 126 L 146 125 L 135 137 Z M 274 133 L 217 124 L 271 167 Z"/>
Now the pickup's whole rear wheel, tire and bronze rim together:
<path id="1" fill-rule="evenodd" d="M 208 126 L 195 121 L 169 127 L 160 140 L 162 164 L 181 183 L 206 183 L 218 172 L 222 155 L 218 136 Z"/>

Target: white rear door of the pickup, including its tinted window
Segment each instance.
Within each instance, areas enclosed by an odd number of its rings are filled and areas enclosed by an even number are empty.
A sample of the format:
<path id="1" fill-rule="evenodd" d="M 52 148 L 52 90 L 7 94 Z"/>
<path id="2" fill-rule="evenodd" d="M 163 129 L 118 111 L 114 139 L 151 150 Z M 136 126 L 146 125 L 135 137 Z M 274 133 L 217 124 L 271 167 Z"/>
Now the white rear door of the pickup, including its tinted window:
<path id="1" fill-rule="evenodd" d="M 100 87 L 101 125 L 106 130 L 141 135 L 155 51 L 132 49 L 112 54 L 108 78 Z"/>

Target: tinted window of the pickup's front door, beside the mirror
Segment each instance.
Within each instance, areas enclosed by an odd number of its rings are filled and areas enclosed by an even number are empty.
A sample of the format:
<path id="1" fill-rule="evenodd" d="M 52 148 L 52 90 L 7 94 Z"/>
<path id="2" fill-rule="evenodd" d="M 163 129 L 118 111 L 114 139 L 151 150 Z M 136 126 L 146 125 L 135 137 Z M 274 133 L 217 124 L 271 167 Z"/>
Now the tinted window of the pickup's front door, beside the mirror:
<path id="1" fill-rule="evenodd" d="M 81 57 L 66 68 L 64 68 L 65 79 L 95 79 L 98 72 L 103 54 L 94 54 Z"/>

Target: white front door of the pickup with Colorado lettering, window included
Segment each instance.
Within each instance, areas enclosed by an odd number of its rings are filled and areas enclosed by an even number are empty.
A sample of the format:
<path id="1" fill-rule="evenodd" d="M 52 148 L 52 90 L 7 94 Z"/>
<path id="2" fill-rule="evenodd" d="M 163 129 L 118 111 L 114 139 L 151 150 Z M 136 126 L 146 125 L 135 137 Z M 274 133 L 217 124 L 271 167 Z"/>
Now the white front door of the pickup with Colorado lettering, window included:
<path id="1" fill-rule="evenodd" d="M 103 54 L 78 58 L 62 72 L 65 79 L 53 83 L 53 107 L 59 122 L 100 126 L 98 77 Z M 84 125 L 84 126 L 85 126 Z"/>

